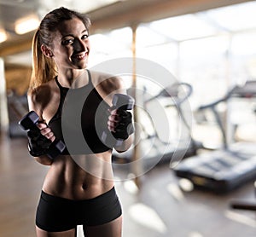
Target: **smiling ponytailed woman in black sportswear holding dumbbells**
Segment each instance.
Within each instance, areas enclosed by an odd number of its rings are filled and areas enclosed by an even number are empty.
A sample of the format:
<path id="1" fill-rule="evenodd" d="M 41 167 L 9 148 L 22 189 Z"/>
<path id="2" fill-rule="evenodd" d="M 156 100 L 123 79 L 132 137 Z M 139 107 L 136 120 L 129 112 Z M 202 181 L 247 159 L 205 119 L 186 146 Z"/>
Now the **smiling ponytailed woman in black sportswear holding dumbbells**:
<path id="1" fill-rule="evenodd" d="M 119 110 L 111 109 L 113 94 L 125 94 L 119 77 L 86 69 L 90 54 L 89 28 L 90 20 L 86 16 L 60 8 L 46 14 L 33 38 L 28 101 L 29 109 L 38 113 L 41 134 L 51 142 L 63 140 L 61 114 L 68 90 L 76 93 L 84 89 L 83 93 L 88 93 L 81 127 L 89 149 L 79 150 L 73 159 L 67 146 L 63 153 L 51 159 L 41 153 L 42 141 L 29 137 L 30 152 L 35 159 L 50 165 L 38 204 L 38 236 L 75 236 L 77 225 L 83 225 L 86 236 L 118 237 L 122 232 L 122 210 L 114 190 L 111 156 L 113 148 L 123 152 L 131 146 L 132 131 L 127 130 L 131 113 L 123 116 Z M 101 109 L 108 111 L 106 128 L 113 135 L 119 129 L 128 137 L 119 147 L 108 147 L 96 136 L 93 115 L 100 104 Z"/>

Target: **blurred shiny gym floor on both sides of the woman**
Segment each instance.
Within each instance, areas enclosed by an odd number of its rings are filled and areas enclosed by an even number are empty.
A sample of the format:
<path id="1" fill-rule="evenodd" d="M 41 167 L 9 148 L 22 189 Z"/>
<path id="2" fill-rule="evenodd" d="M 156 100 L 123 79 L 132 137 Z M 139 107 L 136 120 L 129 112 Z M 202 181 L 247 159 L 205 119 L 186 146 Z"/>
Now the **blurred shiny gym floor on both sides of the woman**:
<path id="1" fill-rule="evenodd" d="M 35 236 L 34 215 L 47 166 L 27 154 L 26 139 L 0 136 L 0 236 Z M 169 165 L 133 182 L 116 182 L 124 211 L 124 237 L 251 237 L 255 211 L 230 209 L 232 199 L 255 199 L 253 182 L 229 194 L 184 192 Z M 116 174 L 119 175 L 116 171 Z M 79 228 L 78 236 L 83 236 Z"/>

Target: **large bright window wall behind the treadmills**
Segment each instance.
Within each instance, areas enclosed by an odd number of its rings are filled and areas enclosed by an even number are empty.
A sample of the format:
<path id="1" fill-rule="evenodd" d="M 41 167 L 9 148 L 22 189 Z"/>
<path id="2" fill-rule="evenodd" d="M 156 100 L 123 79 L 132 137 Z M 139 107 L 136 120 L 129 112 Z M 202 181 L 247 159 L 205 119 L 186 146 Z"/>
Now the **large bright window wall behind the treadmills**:
<path id="1" fill-rule="evenodd" d="M 195 111 L 224 96 L 232 86 L 256 79 L 255 12 L 256 2 L 252 1 L 140 24 L 137 57 L 154 61 L 177 80 L 191 84 L 194 93 L 189 102 Z M 129 27 L 91 36 L 91 41 L 92 65 L 132 56 Z M 249 102 L 244 108 L 252 107 Z M 237 107 L 228 111 L 236 113 Z"/>

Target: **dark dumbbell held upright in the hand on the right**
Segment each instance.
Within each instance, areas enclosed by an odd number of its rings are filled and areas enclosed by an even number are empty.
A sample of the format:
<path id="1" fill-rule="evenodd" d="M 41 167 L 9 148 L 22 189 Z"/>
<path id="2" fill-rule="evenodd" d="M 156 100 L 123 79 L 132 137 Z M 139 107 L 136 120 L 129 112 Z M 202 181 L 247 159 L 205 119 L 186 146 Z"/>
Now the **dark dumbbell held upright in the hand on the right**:
<path id="1" fill-rule="evenodd" d="M 134 99 L 130 95 L 124 94 L 114 94 L 112 100 L 111 109 L 118 109 L 120 116 L 122 116 L 122 111 L 131 110 L 134 107 Z M 127 127 L 127 134 L 133 132 L 133 126 Z M 128 137 L 123 137 L 123 132 L 119 133 L 110 132 L 109 130 L 102 132 L 102 142 L 108 147 L 119 147 L 122 142 Z"/>

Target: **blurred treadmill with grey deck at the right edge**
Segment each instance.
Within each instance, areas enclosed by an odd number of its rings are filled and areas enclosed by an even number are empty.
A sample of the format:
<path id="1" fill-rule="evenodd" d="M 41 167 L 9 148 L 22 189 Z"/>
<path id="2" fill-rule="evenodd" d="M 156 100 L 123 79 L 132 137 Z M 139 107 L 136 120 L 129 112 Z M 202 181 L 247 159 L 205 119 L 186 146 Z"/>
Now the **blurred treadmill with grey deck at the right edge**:
<path id="1" fill-rule="evenodd" d="M 230 192 L 256 179 L 256 143 L 234 142 L 229 145 L 224 125 L 216 110 L 220 102 L 228 101 L 231 97 L 256 97 L 256 81 L 248 81 L 243 87 L 236 86 L 224 98 L 199 108 L 201 111 L 210 109 L 214 114 L 222 132 L 224 146 L 183 159 L 172 167 L 177 177 L 188 179 L 195 188 L 218 194 Z"/>

